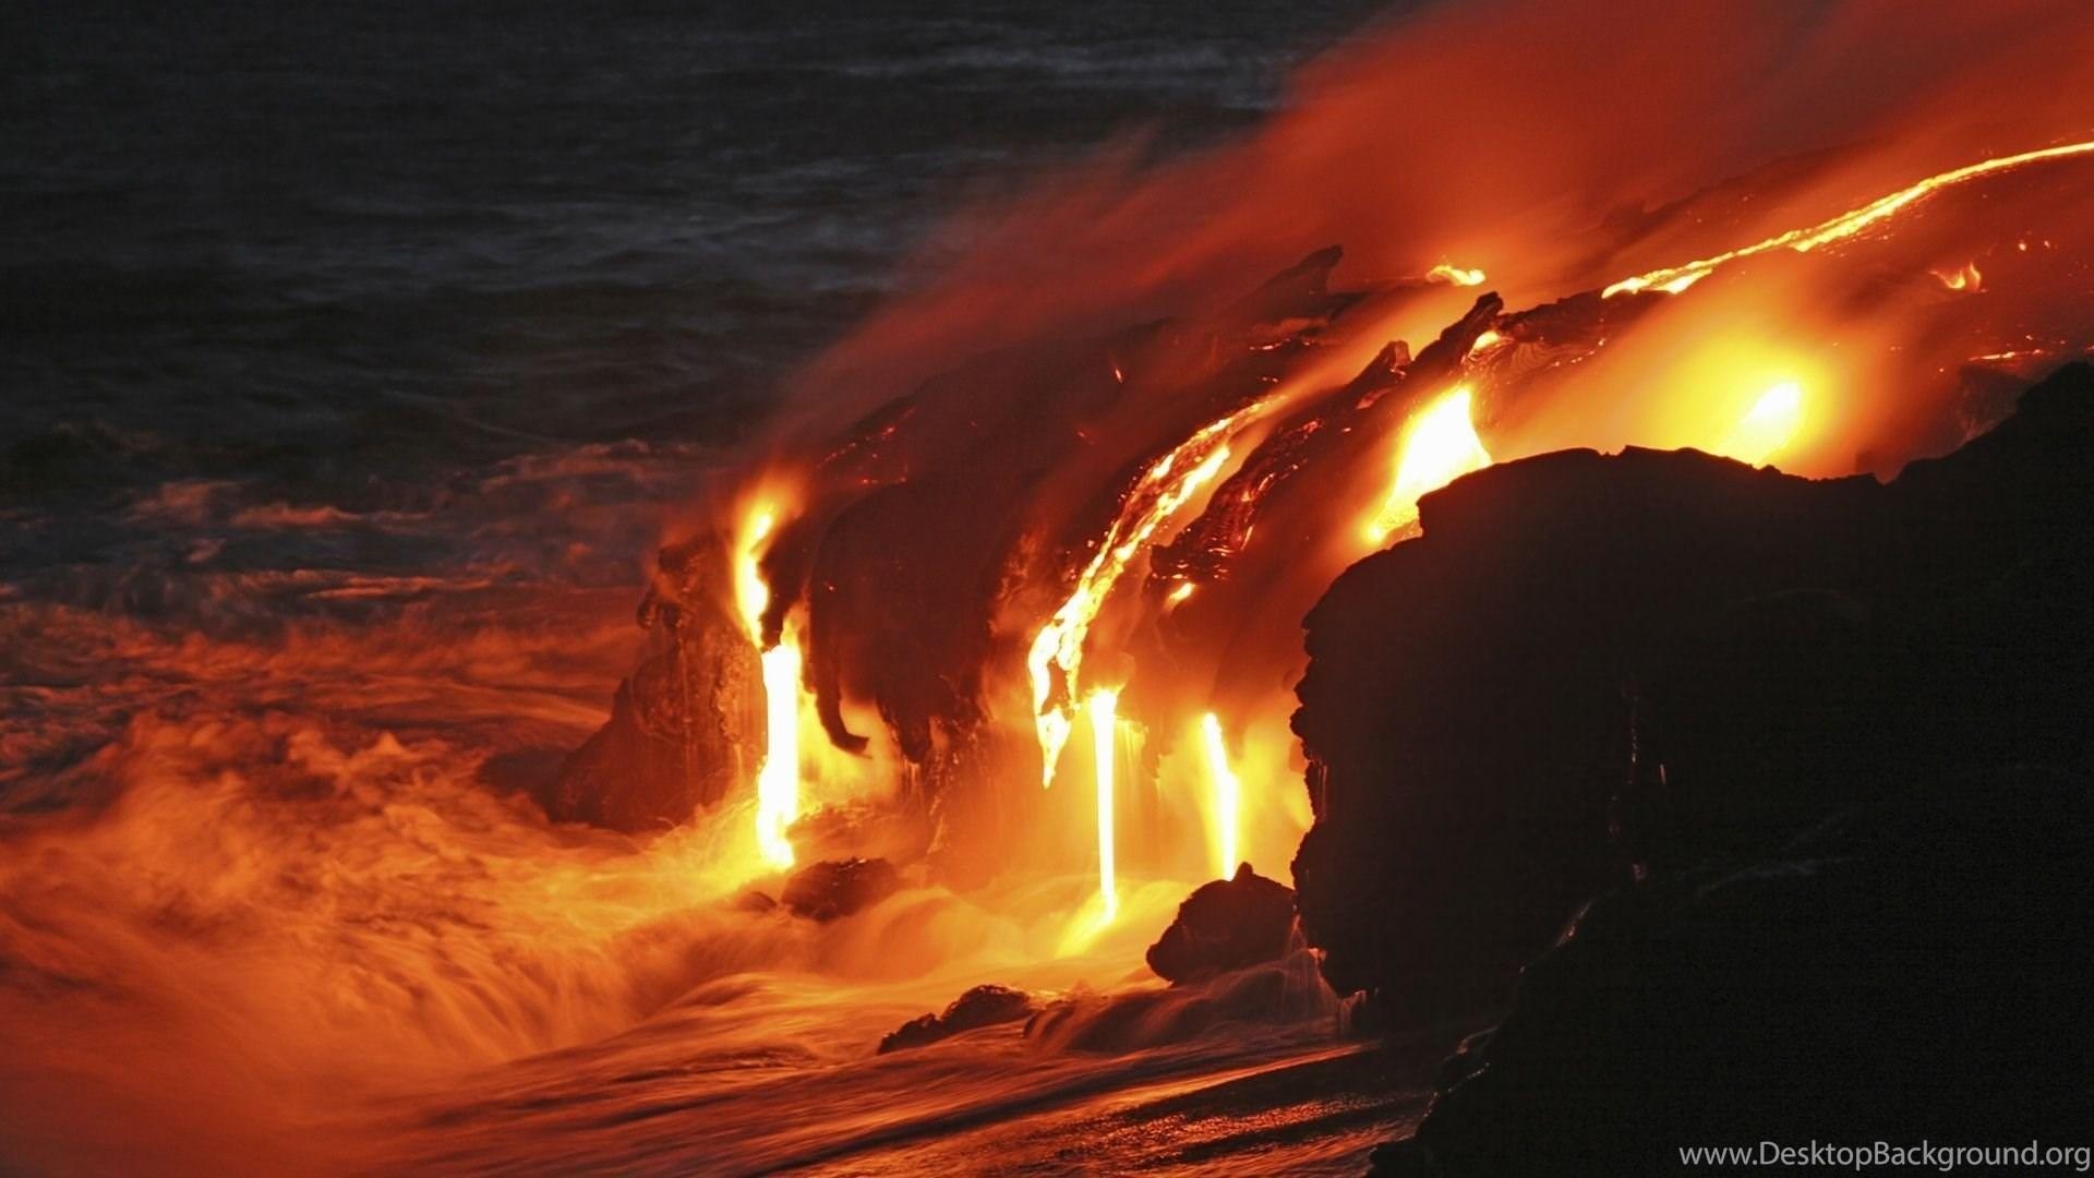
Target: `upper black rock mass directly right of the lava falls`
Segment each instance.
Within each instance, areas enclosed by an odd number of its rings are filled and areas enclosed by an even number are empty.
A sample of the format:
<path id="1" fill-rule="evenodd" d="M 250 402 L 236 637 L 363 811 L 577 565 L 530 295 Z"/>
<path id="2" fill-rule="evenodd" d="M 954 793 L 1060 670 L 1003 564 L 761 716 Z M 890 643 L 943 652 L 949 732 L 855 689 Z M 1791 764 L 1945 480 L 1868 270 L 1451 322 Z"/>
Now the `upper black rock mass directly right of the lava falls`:
<path id="1" fill-rule="evenodd" d="M 1503 1002 L 1589 897 L 1912 782 L 2094 746 L 2094 369 L 1891 484 L 1684 453 L 1514 461 L 1307 620 L 1294 861 L 1340 991 Z"/>

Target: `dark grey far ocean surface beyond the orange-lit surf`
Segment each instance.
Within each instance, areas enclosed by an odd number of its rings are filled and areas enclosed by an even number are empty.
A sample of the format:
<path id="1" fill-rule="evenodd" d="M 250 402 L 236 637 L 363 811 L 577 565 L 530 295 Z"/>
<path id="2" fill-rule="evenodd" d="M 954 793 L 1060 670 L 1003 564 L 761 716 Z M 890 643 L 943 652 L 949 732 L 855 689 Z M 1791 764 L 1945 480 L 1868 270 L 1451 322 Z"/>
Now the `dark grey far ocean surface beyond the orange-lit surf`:
<path id="1" fill-rule="evenodd" d="M 932 226 L 1376 4 L 191 8 L 0 19 L 0 593 L 634 583 L 655 516 L 576 507 L 687 495 Z"/>

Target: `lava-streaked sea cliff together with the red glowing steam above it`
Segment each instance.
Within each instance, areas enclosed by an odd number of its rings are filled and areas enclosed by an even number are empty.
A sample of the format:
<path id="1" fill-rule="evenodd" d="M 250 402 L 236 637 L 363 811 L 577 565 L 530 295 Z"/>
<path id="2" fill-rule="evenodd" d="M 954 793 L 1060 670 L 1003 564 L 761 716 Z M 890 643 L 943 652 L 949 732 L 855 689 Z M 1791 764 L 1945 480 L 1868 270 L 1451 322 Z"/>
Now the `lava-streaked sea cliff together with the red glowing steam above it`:
<path id="1" fill-rule="evenodd" d="M 1761 10 L 1520 10 L 1594 52 L 1508 63 L 1501 17 L 1420 19 L 1244 145 L 1085 174 L 988 224 L 810 369 L 819 396 L 725 497 L 762 660 L 764 861 L 789 864 L 787 828 L 833 801 L 829 750 L 796 748 L 802 692 L 838 750 L 867 746 L 846 706 L 884 725 L 898 752 L 875 769 L 919 805 L 919 849 L 1068 868 L 1095 838 L 1108 910 L 1129 872 L 1282 853 L 1307 822 L 1273 805 L 1298 792 L 1296 627 L 1418 530 L 1422 497 L 1566 446 L 1885 474 L 1998 419 L 1968 365 L 2090 344 L 2046 310 L 2086 300 L 2084 113 L 2029 103 L 2006 151 L 1987 149 L 1998 111 L 1964 115 L 2029 90 L 2031 52 L 2077 92 L 2071 46 L 1973 17 L 1956 44 L 1893 46 L 1924 84 L 1870 84 L 1849 111 L 1824 63 L 1883 44 L 1857 15 L 1809 31 L 1822 52 L 1765 126 L 1711 128 L 1696 111 L 1730 103 L 1725 78 L 1786 61 L 1740 36 Z M 1705 63 L 1667 84 L 1679 109 L 1650 101 L 1658 48 Z M 1501 117 L 1399 145 L 1359 117 L 1449 75 L 1501 92 Z M 1405 187 L 1420 174 L 1434 184 Z M 804 480 L 792 514 L 764 493 L 779 470 Z M 1051 786 L 1085 721 L 1095 805 L 1005 797 Z M 999 801 L 946 807 L 959 792 Z"/>

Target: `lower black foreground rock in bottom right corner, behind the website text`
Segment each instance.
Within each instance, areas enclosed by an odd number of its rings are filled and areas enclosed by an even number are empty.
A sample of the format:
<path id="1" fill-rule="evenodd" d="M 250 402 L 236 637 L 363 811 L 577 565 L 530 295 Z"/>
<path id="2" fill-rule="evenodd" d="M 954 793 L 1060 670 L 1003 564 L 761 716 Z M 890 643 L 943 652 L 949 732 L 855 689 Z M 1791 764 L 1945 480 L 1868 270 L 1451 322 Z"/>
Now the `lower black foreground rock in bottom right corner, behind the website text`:
<path id="1" fill-rule="evenodd" d="M 1608 895 L 1374 1172 L 1627 1178 L 1692 1170 L 1694 1144 L 2071 1136 L 2094 1107 L 2090 786 L 1910 786 L 1740 868 Z"/>

